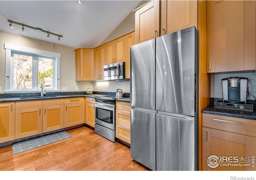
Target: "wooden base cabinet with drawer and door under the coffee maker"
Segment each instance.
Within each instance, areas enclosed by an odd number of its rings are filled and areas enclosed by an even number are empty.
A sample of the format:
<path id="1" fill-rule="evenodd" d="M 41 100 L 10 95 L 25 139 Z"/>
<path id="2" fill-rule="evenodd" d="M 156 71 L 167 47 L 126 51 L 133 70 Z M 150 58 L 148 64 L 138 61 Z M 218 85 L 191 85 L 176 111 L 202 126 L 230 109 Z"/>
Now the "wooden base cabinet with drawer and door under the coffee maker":
<path id="1" fill-rule="evenodd" d="M 254 120 L 205 113 L 202 114 L 202 118 L 202 170 L 255 170 L 252 166 L 252 158 L 256 154 Z M 210 168 L 207 164 L 211 155 L 220 158 L 216 168 Z M 250 166 L 230 165 L 247 162 Z"/>

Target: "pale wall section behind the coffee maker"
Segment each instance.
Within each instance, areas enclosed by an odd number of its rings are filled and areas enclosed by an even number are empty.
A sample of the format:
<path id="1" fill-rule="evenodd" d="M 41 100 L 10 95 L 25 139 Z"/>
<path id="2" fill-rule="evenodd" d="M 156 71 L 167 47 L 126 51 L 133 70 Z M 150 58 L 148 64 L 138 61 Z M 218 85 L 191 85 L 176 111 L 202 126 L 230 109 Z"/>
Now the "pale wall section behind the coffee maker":
<path id="1" fill-rule="evenodd" d="M 225 73 L 225 74 L 213 74 L 211 75 L 211 97 L 222 98 L 222 85 L 221 79 L 227 77 L 247 77 L 251 84 L 252 95 L 256 97 L 256 73 Z M 251 95 L 247 99 L 254 99 Z"/>

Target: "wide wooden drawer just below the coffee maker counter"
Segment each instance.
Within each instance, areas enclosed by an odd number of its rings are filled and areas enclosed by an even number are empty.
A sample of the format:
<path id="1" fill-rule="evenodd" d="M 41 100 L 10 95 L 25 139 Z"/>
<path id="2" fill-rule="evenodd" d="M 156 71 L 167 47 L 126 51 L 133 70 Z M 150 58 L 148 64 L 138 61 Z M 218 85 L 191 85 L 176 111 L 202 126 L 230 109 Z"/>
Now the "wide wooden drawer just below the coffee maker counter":
<path id="1" fill-rule="evenodd" d="M 256 121 L 202 113 L 202 126 L 256 137 Z"/>

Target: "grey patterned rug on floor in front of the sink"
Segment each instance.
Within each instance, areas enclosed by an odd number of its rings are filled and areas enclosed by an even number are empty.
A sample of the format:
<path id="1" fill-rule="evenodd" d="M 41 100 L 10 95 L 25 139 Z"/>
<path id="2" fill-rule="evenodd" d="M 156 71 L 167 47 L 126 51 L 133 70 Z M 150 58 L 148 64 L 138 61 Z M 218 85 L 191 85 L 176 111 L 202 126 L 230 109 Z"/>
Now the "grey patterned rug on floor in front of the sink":
<path id="1" fill-rule="evenodd" d="M 16 144 L 12 144 L 12 153 L 18 154 L 20 152 L 24 152 L 26 150 L 38 148 L 40 146 L 44 146 L 46 144 L 51 144 L 53 142 L 57 142 L 66 138 L 70 138 L 71 135 L 69 135 L 66 131 L 61 131 L 58 133 L 54 133 L 51 135 L 46 135 L 30 140 L 26 140 L 23 142 L 18 142 Z"/>

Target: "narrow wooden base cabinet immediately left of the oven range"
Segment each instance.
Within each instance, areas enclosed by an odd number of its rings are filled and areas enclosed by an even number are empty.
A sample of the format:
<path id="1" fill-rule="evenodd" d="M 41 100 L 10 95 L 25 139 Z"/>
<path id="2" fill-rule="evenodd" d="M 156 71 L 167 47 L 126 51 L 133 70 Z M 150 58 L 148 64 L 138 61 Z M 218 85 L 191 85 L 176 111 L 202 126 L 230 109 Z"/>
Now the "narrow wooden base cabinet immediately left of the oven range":
<path id="1" fill-rule="evenodd" d="M 94 110 L 95 100 L 91 97 L 86 97 L 85 105 L 85 123 L 91 127 L 95 127 L 95 110 Z"/>

